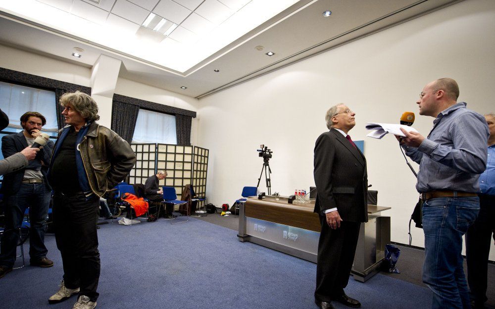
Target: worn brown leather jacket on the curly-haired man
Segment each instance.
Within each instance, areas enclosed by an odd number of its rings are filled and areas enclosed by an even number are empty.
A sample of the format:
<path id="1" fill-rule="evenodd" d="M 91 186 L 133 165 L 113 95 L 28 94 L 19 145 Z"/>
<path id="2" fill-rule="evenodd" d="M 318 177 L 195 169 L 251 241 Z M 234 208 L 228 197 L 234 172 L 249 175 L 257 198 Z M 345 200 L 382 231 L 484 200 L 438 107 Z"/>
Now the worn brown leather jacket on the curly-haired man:
<path id="1" fill-rule="evenodd" d="M 58 133 L 50 169 L 70 127 L 65 126 Z M 76 165 L 81 189 L 84 192 L 92 191 L 100 197 L 129 175 L 136 162 L 136 155 L 129 143 L 95 121 L 79 130 L 76 145 L 79 150 L 76 151 Z"/>

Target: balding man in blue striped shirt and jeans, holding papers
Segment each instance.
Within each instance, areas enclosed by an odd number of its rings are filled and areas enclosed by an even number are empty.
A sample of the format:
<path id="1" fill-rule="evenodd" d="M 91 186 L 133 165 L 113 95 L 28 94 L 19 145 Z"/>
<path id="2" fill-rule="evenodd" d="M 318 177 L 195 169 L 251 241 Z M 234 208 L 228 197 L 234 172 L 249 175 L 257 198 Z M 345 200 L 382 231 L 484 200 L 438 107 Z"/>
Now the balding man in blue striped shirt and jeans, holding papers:
<path id="1" fill-rule="evenodd" d="M 433 291 L 433 309 L 471 309 L 464 269 L 462 236 L 480 209 L 477 193 L 487 163 L 485 118 L 457 103 L 453 79 L 433 81 L 419 94 L 419 114 L 434 117 L 425 138 L 406 132 L 401 144 L 419 163 L 416 189 L 423 198 L 425 263 L 423 282 Z"/>

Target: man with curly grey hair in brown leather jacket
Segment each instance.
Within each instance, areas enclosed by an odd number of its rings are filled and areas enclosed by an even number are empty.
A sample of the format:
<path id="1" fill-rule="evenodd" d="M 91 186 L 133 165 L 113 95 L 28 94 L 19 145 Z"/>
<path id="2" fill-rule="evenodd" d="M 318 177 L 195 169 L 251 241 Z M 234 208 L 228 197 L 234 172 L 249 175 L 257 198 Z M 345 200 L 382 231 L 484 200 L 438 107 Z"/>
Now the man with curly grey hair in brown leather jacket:
<path id="1" fill-rule="evenodd" d="M 78 293 L 74 308 L 93 309 L 100 260 L 96 218 L 99 197 L 122 181 L 136 156 L 117 133 L 100 126 L 98 106 L 76 91 L 60 97 L 67 124 L 59 131 L 49 168 L 54 190 L 55 239 L 63 262 L 63 280 L 49 298 L 58 303 Z"/>

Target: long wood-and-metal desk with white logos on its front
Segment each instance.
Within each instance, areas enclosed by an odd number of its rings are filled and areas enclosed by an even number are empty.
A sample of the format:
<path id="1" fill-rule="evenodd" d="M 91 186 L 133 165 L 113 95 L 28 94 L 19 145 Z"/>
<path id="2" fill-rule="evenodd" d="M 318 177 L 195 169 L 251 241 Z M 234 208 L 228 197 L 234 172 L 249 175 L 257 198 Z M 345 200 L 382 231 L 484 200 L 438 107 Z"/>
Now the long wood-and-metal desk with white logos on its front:
<path id="1" fill-rule="evenodd" d="M 289 204 L 286 197 L 247 198 L 239 209 L 239 234 L 249 241 L 316 263 L 320 220 L 313 213 L 314 201 Z M 390 207 L 368 205 L 368 222 L 361 224 L 356 255 L 351 273 L 354 279 L 366 281 L 378 272 L 390 243 L 390 217 L 380 216 Z"/>

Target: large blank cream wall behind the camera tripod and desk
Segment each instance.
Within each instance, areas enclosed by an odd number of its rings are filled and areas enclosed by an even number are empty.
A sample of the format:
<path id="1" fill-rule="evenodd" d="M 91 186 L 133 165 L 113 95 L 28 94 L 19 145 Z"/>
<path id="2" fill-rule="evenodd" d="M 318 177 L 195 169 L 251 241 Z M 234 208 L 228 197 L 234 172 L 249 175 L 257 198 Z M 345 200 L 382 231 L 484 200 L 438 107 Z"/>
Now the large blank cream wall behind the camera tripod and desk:
<path id="1" fill-rule="evenodd" d="M 469 108 L 495 110 L 493 50 L 495 1 L 466 0 L 201 99 L 198 140 L 211 149 L 208 201 L 232 204 L 243 186 L 256 185 L 260 143 L 274 151 L 272 192 L 308 190 L 314 185 L 314 141 L 327 130 L 325 111 L 345 102 L 357 113 L 350 134 L 365 140 L 371 189 L 378 190 L 379 205 L 392 207 L 384 213 L 392 217 L 392 241 L 408 243 L 416 179 L 396 139 L 365 137 L 364 126 L 397 123 L 404 111 L 419 116 L 419 92 L 442 77 L 457 80 L 459 100 Z M 427 135 L 432 122 L 419 116 L 414 128 Z M 424 246 L 421 229 L 412 227 L 412 237 L 413 245 Z"/>

